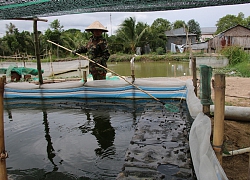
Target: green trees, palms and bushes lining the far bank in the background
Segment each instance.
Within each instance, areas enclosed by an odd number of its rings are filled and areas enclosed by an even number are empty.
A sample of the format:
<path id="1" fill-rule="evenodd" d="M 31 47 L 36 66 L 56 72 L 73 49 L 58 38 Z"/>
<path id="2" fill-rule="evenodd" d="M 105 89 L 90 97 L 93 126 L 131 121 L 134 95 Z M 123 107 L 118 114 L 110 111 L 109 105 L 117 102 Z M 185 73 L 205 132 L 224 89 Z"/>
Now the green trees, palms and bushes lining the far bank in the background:
<path id="1" fill-rule="evenodd" d="M 157 60 L 183 60 L 188 59 L 188 54 L 177 54 L 171 53 L 165 54 L 165 46 L 167 37 L 165 35 L 166 30 L 172 28 L 183 28 L 188 27 L 189 32 L 197 34 L 200 33 L 199 24 L 191 19 L 185 24 L 185 21 L 177 20 L 171 24 L 168 20 L 157 18 L 151 26 L 143 22 L 136 22 L 135 18 L 127 18 L 119 26 L 115 35 L 108 37 L 108 34 L 103 34 L 106 37 L 109 45 L 111 54 L 117 54 L 114 58 L 110 58 L 110 61 L 130 61 L 131 57 L 135 53 L 136 47 L 142 47 L 142 54 L 144 54 L 144 47 L 150 47 L 150 54 L 137 56 L 138 61 L 157 61 Z M 221 18 L 217 25 L 219 30 L 225 30 L 233 25 L 241 24 L 245 27 L 250 27 L 250 16 L 244 18 L 243 13 L 239 13 L 238 16 L 227 15 Z M 74 50 L 82 45 L 86 45 L 89 37 L 92 35 L 90 32 L 81 32 L 79 29 L 69 29 L 64 31 L 63 26 L 58 20 L 53 21 L 50 24 L 50 29 L 47 29 L 45 33 L 39 32 L 39 47 L 41 55 L 48 55 L 48 52 L 52 52 L 52 55 L 57 59 L 63 59 L 65 57 L 71 57 L 71 53 L 59 48 L 47 40 L 51 40 L 58 43 L 68 49 Z M 19 32 L 18 28 L 12 23 L 6 25 L 6 35 L 0 38 L 0 54 L 9 56 L 20 54 L 20 55 L 35 55 L 34 51 L 34 34 L 31 32 Z M 149 46 L 148 46 L 149 45 Z M 244 59 L 249 58 L 248 55 L 242 52 L 241 48 L 235 49 L 224 49 L 224 55 L 230 59 L 230 65 L 235 66 L 235 71 L 245 71 L 244 68 L 249 67 L 248 65 L 240 64 L 245 62 Z M 124 55 L 127 54 L 127 55 Z M 195 56 L 203 55 L 202 53 L 194 53 Z M 59 57 L 60 56 L 60 57 Z M 237 65 L 237 68 L 236 68 Z M 238 67 L 239 66 L 239 67 Z M 241 70 L 240 70 L 241 69 Z M 242 73 L 242 74 L 246 74 Z M 245 76 L 245 75 L 244 75 Z"/>

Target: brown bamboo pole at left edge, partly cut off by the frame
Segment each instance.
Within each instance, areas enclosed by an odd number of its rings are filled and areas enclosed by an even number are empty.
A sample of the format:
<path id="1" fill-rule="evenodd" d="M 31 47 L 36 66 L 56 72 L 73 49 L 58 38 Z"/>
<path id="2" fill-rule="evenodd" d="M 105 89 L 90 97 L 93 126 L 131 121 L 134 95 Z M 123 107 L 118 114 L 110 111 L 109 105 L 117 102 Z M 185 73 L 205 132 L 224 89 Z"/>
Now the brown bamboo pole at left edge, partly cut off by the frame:
<path id="1" fill-rule="evenodd" d="M 4 78 L 0 77 L 0 179 L 7 180 L 6 158 L 7 153 L 4 145 L 4 118 L 3 118 L 3 95 L 4 95 Z"/>

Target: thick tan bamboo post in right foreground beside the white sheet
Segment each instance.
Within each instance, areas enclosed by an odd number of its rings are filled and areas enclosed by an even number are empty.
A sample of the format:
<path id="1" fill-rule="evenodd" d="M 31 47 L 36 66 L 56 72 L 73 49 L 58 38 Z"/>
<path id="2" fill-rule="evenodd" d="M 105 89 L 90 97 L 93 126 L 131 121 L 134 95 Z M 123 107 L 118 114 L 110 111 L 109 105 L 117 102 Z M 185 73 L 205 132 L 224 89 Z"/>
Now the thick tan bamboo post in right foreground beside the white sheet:
<path id="1" fill-rule="evenodd" d="M 214 131 L 213 149 L 222 165 L 222 145 L 224 139 L 224 116 L 225 116 L 225 74 L 214 75 Z"/>

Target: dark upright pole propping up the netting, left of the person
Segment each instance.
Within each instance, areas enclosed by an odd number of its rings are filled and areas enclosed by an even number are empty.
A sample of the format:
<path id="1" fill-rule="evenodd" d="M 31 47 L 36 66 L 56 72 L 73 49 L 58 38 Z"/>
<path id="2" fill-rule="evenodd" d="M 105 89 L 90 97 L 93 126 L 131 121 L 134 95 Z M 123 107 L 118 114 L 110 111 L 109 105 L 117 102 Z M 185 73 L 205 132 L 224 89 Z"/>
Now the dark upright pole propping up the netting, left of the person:
<path id="1" fill-rule="evenodd" d="M 37 70 L 38 70 L 38 78 L 39 83 L 43 84 L 43 77 L 42 77 L 42 68 L 41 68 L 41 61 L 40 61 L 40 50 L 39 50 L 39 41 L 38 41 L 38 32 L 37 32 L 37 20 L 34 19 L 34 41 L 35 41 L 35 54 L 37 60 Z"/>

